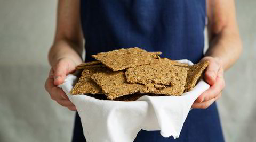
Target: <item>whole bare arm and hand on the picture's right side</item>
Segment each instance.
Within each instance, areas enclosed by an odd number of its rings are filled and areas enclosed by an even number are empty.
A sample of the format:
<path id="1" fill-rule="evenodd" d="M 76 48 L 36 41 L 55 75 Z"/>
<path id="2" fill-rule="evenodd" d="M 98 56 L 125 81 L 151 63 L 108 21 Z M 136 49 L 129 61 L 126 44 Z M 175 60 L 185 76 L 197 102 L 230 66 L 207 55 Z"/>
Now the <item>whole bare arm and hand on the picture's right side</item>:
<path id="1" fill-rule="evenodd" d="M 224 70 L 231 67 L 242 52 L 234 0 L 207 0 L 206 3 L 209 49 L 201 61 L 210 62 L 204 73 L 204 79 L 210 84 L 210 88 L 194 102 L 192 108 L 195 109 L 206 109 L 221 97 L 225 87 Z"/>

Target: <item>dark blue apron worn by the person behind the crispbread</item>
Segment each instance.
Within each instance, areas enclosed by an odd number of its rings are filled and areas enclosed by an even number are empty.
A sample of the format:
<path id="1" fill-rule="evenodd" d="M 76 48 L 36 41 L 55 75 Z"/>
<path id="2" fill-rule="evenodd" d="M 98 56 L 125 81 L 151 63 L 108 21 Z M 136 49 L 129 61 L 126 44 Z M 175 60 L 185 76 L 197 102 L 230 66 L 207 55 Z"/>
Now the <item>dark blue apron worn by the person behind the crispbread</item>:
<path id="1" fill-rule="evenodd" d="M 204 0 L 82 0 L 85 60 L 92 61 L 98 52 L 137 46 L 197 63 L 203 57 L 205 16 Z M 73 141 L 85 141 L 78 114 Z M 224 141 L 217 105 L 191 110 L 178 139 L 141 130 L 134 141 Z"/>

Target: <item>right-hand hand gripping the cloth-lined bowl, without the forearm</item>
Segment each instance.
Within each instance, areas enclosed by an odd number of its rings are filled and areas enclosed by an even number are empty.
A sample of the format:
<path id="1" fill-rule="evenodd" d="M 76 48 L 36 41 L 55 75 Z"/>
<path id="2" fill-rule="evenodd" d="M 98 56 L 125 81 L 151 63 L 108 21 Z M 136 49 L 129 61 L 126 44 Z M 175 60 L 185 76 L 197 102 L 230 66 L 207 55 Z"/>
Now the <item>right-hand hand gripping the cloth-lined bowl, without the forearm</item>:
<path id="1" fill-rule="evenodd" d="M 210 84 L 210 88 L 204 91 L 193 103 L 194 109 L 206 109 L 214 101 L 221 97 L 221 92 L 225 87 L 224 70 L 218 58 L 204 57 L 201 61 L 209 61 L 209 65 L 204 73 L 205 81 Z"/>

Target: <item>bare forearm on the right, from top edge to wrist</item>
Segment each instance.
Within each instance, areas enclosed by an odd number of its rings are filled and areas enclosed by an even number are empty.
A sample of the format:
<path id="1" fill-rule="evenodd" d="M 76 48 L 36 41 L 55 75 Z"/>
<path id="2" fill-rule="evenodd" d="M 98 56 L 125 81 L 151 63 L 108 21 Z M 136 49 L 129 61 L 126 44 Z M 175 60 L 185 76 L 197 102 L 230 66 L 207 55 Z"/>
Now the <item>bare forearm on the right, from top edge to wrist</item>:
<path id="1" fill-rule="evenodd" d="M 206 4 L 210 41 L 206 56 L 219 58 L 222 68 L 227 70 L 239 58 L 242 51 L 235 2 L 234 0 L 207 0 Z"/>

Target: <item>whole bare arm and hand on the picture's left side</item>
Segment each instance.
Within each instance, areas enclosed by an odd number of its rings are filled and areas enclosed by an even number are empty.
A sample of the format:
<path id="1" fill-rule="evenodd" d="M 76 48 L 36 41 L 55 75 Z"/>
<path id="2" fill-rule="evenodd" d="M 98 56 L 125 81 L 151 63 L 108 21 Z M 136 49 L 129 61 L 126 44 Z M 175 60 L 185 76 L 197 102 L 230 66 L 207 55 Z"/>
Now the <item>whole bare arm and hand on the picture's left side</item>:
<path id="1" fill-rule="evenodd" d="M 58 85 L 82 63 L 83 34 L 79 7 L 80 1 L 58 1 L 57 30 L 48 55 L 52 68 L 45 82 L 51 98 L 73 111 L 76 111 L 75 105 Z"/>

